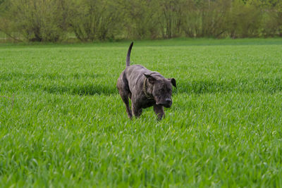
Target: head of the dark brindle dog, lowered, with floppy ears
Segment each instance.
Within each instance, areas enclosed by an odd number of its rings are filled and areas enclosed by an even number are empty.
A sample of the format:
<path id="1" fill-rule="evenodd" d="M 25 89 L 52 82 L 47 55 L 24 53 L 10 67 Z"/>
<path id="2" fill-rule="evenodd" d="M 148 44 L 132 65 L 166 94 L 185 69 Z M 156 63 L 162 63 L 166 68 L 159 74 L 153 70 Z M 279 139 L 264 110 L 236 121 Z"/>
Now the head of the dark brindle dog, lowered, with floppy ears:
<path id="1" fill-rule="evenodd" d="M 174 78 L 165 78 L 159 73 L 145 73 L 145 77 L 149 81 L 149 90 L 157 105 L 166 108 L 171 107 L 172 99 L 172 85 L 176 87 L 176 80 Z"/>

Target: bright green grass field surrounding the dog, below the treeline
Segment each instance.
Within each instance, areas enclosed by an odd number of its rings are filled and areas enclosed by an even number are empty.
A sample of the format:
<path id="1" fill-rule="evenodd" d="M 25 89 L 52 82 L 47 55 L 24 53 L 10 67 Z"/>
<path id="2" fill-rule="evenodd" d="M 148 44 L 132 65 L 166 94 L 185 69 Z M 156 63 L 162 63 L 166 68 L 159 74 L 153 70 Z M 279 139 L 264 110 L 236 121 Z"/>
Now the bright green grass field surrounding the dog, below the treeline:
<path id="1" fill-rule="evenodd" d="M 135 42 L 161 121 L 128 120 L 129 44 L 0 44 L 1 187 L 282 187 L 282 39 Z"/>

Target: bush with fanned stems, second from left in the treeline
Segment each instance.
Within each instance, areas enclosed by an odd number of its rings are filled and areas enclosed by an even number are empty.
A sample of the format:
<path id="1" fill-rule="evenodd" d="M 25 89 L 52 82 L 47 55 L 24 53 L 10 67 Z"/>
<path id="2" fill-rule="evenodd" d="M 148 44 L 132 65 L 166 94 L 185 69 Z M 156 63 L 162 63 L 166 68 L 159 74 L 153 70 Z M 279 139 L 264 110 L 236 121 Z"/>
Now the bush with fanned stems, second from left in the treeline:
<path id="1" fill-rule="evenodd" d="M 114 1 L 73 0 L 68 7 L 68 23 L 83 42 L 114 37 L 121 22 L 121 13 Z"/>

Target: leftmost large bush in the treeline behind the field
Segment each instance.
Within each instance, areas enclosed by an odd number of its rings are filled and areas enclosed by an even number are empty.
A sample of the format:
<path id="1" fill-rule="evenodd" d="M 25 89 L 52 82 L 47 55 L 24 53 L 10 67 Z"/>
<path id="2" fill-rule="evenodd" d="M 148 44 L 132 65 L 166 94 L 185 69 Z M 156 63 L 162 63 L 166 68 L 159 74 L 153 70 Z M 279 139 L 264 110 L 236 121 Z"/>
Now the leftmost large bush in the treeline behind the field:
<path id="1" fill-rule="evenodd" d="M 10 0 L 6 18 L 28 41 L 57 42 L 65 35 L 63 0 Z"/>

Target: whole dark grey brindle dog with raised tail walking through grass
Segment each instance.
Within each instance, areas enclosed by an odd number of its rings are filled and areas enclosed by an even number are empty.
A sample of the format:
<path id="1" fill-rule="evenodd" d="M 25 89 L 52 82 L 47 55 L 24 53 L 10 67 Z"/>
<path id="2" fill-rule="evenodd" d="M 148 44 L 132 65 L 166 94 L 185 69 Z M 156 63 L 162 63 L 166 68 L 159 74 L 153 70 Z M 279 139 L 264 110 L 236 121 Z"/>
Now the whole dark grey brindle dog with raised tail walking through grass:
<path id="1" fill-rule="evenodd" d="M 142 114 L 142 108 L 154 106 L 154 112 L 158 120 L 164 118 L 164 107 L 171 107 L 171 84 L 176 87 L 174 78 L 166 79 L 157 72 L 152 72 L 142 65 L 130 66 L 130 52 L 133 42 L 128 49 L 126 56 L 126 68 L 118 77 L 116 87 L 121 95 L 121 99 L 126 107 L 128 118 L 139 117 Z M 132 102 L 132 111 L 129 106 L 128 97 Z"/>

